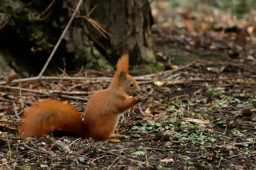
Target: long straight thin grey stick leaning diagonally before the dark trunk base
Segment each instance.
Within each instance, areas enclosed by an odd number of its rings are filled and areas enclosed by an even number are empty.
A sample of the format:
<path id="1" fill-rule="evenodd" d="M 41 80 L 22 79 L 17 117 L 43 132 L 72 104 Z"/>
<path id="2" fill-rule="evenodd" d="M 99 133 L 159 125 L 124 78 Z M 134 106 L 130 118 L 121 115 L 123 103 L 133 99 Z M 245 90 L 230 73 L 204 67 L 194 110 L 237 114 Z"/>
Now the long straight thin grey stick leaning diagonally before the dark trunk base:
<path id="1" fill-rule="evenodd" d="M 64 29 L 63 33 L 61 34 L 60 39 L 58 40 L 57 44 L 56 44 L 55 47 L 53 48 L 50 57 L 47 59 L 47 62 L 46 62 L 45 65 L 44 65 L 44 68 L 43 68 L 43 69 L 41 70 L 41 72 L 39 73 L 39 75 L 38 75 L 39 79 L 40 79 L 40 78 L 42 77 L 42 75 L 44 74 L 45 69 L 46 69 L 47 66 L 49 65 L 49 62 L 51 61 L 53 55 L 55 54 L 55 51 L 57 50 L 58 46 L 60 45 L 61 40 L 63 39 L 64 35 L 65 35 L 66 32 L 67 32 L 67 29 L 68 29 L 69 26 L 71 25 L 71 23 L 72 23 L 72 21 L 73 21 L 75 15 L 76 15 L 76 12 L 78 11 L 78 9 L 79 9 L 79 7 L 81 6 L 81 3 L 82 3 L 82 2 L 83 2 L 83 0 L 79 0 L 79 3 L 77 4 L 76 9 L 75 9 L 73 15 L 71 16 L 69 22 L 67 23 L 66 28 Z"/>

